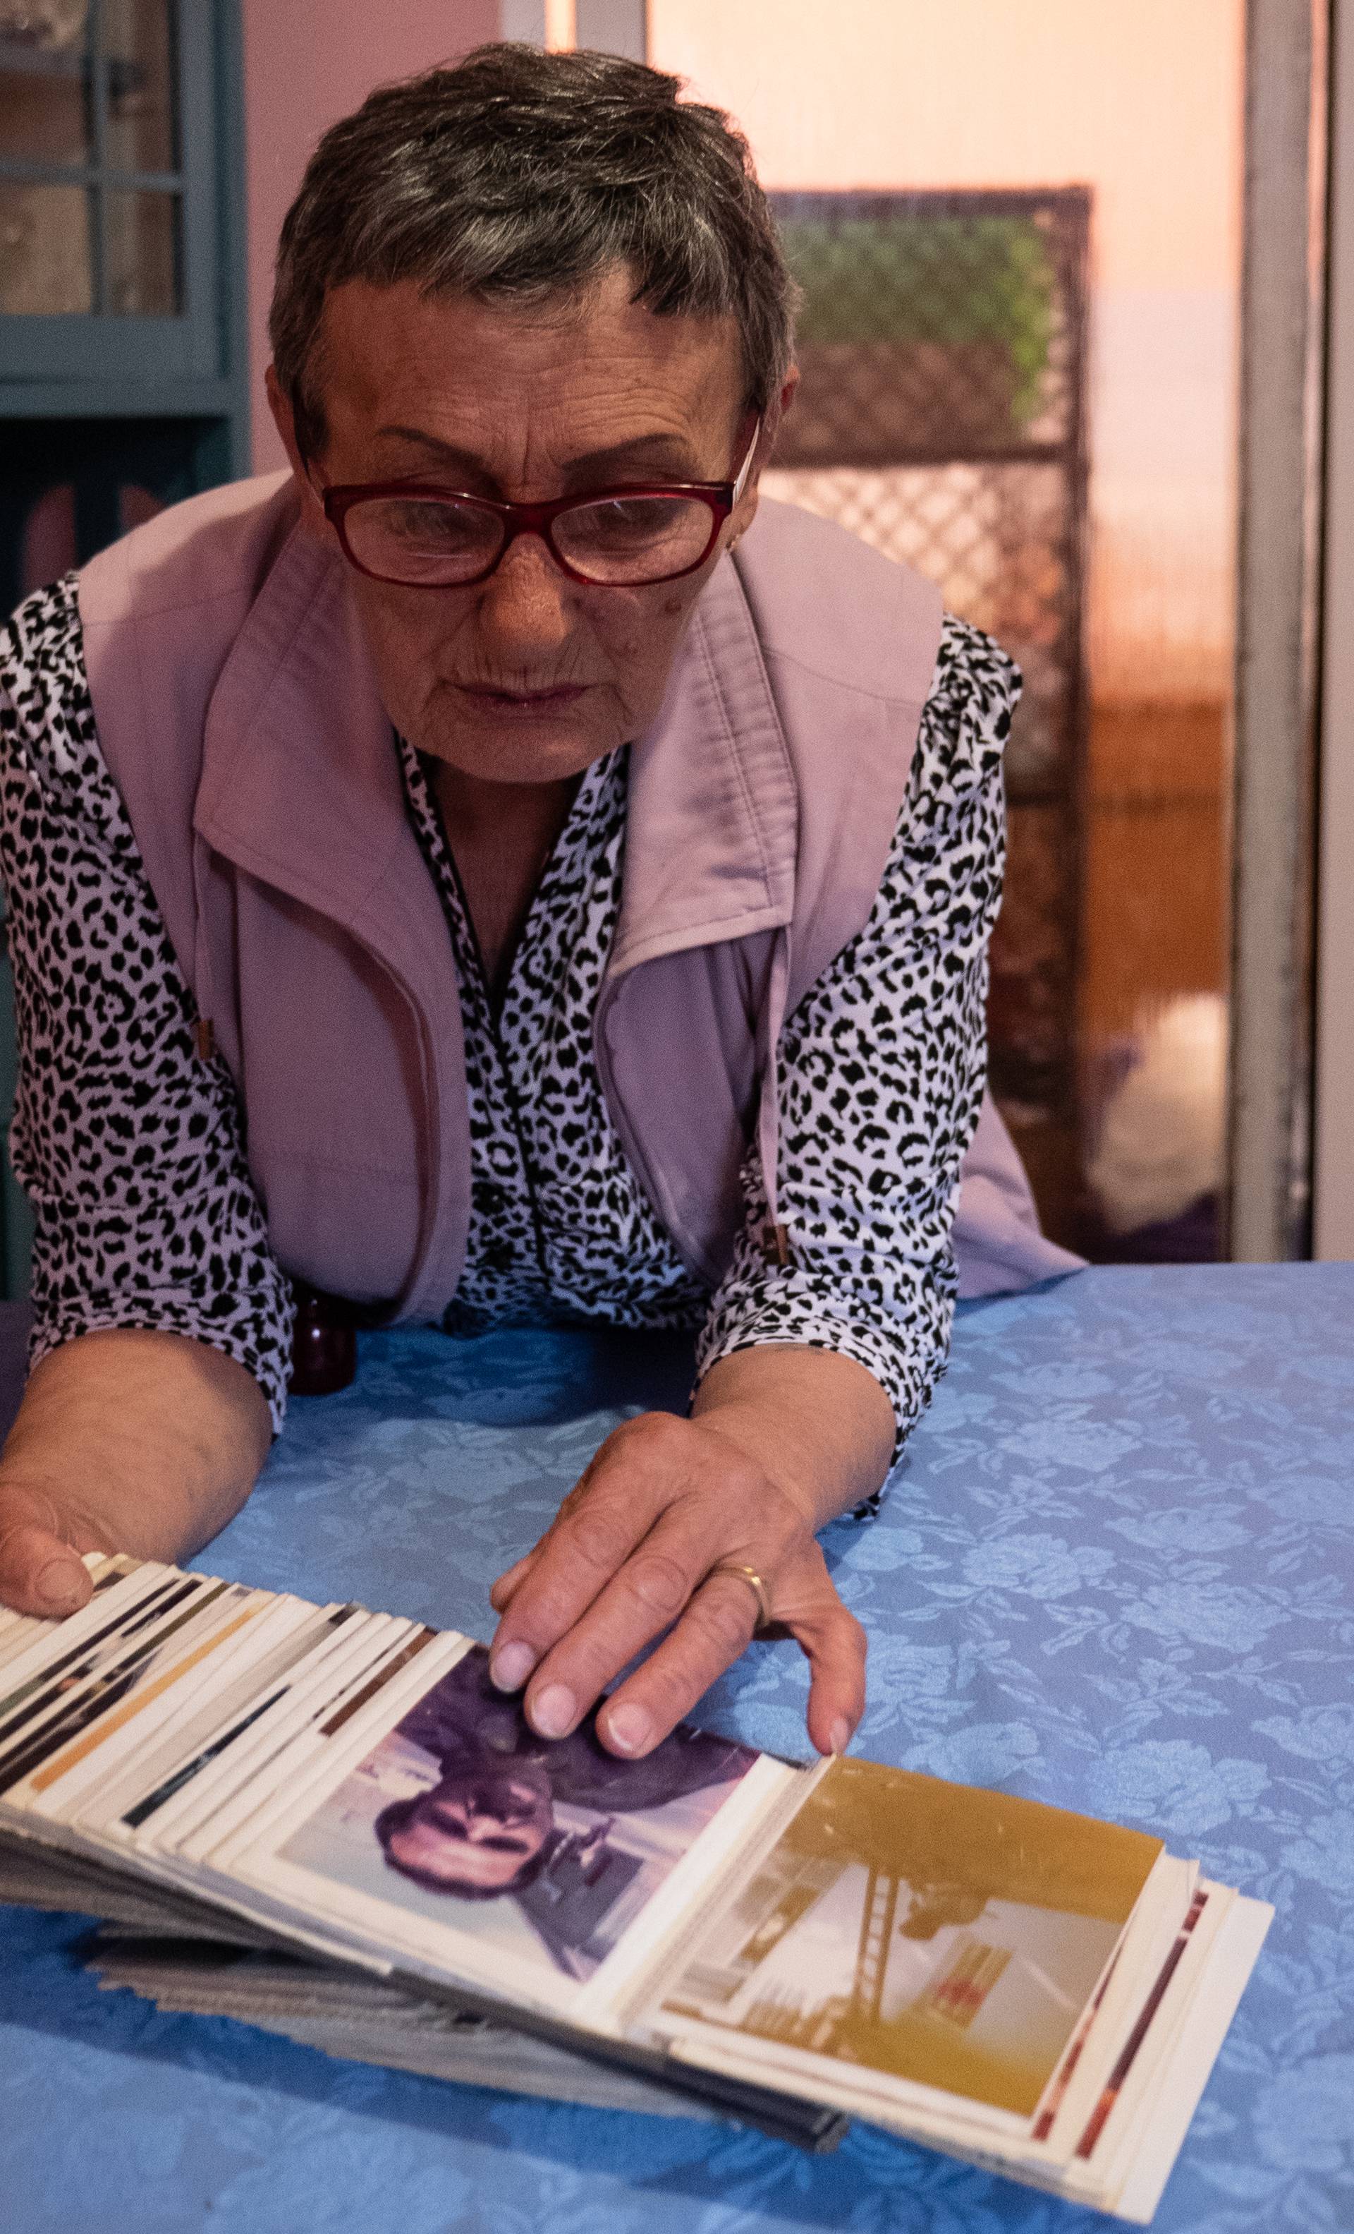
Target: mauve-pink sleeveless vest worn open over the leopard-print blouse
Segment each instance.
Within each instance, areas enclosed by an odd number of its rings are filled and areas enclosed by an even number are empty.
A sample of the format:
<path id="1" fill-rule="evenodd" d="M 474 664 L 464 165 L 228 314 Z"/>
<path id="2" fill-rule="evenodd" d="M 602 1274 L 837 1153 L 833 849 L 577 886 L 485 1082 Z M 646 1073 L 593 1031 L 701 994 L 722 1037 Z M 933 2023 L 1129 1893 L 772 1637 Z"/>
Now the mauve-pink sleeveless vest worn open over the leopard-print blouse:
<path id="1" fill-rule="evenodd" d="M 469 1222 L 460 1001 L 346 565 L 299 529 L 288 478 L 237 483 L 94 558 L 80 617 L 101 746 L 237 1081 L 282 1264 L 438 1318 Z M 632 746 L 597 1063 L 711 1282 L 753 1133 L 775 1218 L 775 1041 L 871 909 L 938 632 L 918 574 L 764 503 Z M 1079 1262 L 1039 1233 L 990 1101 L 956 1256 L 963 1293 Z"/>

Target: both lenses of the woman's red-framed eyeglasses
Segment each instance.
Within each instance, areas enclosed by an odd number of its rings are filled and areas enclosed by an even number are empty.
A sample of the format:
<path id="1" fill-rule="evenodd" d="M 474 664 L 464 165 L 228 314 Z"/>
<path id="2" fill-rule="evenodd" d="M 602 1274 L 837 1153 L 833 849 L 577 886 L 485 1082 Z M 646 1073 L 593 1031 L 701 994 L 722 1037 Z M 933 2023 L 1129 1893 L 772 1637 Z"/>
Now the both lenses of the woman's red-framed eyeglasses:
<path id="1" fill-rule="evenodd" d="M 697 496 L 628 496 L 561 512 L 552 538 L 565 565 L 608 588 L 666 581 L 699 565 L 715 516 Z M 371 496 L 344 529 L 353 558 L 382 581 L 449 588 L 485 574 L 505 525 L 478 505 L 431 496 Z"/>

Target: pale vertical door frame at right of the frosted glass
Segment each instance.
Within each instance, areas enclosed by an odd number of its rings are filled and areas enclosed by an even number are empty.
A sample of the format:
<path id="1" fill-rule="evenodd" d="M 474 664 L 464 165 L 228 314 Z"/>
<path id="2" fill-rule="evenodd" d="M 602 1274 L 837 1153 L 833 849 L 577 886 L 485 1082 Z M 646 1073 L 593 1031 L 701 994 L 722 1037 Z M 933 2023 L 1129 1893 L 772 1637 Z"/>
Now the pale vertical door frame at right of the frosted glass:
<path id="1" fill-rule="evenodd" d="M 1227 1253 L 1309 1253 L 1329 0 L 1247 0 Z"/>

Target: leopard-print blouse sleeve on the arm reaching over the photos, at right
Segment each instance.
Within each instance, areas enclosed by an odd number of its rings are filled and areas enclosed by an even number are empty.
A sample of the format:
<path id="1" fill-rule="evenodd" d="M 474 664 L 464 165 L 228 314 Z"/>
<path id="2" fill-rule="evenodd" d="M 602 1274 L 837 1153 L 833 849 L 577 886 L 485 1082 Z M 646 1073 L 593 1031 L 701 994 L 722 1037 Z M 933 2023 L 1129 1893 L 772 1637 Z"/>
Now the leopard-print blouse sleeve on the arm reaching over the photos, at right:
<path id="1" fill-rule="evenodd" d="M 697 1345 L 699 1374 L 762 1343 L 856 1358 L 894 1405 L 894 1463 L 950 1349 L 950 1229 L 983 1099 L 1001 751 L 1017 697 L 1019 672 L 997 643 L 947 619 L 878 898 L 780 1039 L 791 1262 L 764 1260 L 753 1148 L 746 1222 Z"/>

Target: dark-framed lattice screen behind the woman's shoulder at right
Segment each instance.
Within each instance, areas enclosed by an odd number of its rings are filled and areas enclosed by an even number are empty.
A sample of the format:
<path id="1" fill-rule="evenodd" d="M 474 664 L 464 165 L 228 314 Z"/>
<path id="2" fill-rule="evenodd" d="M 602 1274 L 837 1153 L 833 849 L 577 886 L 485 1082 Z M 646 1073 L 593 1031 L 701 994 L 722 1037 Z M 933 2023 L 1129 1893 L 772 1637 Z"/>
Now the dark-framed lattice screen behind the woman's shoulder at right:
<path id="1" fill-rule="evenodd" d="M 1075 1110 L 1090 197 L 773 194 L 804 288 L 800 393 L 764 476 L 945 592 L 1019 659 L 992 1086 Z"/>

